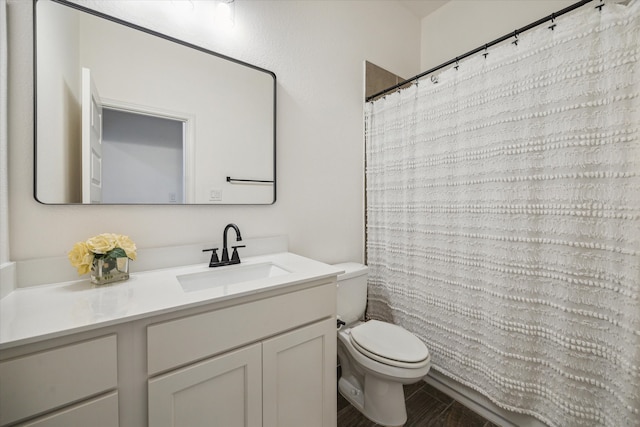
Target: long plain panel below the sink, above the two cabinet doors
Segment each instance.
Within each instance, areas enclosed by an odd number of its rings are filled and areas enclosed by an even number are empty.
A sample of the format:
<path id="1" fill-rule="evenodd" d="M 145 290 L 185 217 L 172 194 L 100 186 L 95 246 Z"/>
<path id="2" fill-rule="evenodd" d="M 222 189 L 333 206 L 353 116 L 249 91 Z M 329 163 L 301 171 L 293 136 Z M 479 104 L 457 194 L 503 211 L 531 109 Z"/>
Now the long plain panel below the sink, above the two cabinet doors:
<path id="1" fill-rule="evenodd" d="M 336 284 L 172 320 L 147 328 L 149 375 L 333 316 Z"/>

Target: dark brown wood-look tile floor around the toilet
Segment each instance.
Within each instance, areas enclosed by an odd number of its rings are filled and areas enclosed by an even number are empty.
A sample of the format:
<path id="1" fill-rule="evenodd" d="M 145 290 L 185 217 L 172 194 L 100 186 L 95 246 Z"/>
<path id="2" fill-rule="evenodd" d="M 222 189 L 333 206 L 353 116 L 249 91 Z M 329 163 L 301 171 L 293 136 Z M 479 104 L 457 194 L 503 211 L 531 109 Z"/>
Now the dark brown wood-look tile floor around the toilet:
<path id="1" fill-rule="evenodd" d="M 497 427 L 451 397 L 420 381 L 405 386 L 404 427 Z M 338 392 L 338 427 L 377 427 Z"/>

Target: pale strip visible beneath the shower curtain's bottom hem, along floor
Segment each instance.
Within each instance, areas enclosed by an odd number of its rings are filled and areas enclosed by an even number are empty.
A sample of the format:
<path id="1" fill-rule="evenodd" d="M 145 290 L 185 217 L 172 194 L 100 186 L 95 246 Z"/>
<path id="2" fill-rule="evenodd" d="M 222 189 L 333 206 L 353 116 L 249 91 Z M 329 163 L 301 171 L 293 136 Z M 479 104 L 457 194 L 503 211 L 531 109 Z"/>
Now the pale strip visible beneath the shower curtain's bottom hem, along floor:
<path id="1" fill-rule="evenodd" d="M 424 381 L 500 427 L 547 427 L 531 416 L 500 408 L 479 392 L 434 369 L 431 369 Z"/>

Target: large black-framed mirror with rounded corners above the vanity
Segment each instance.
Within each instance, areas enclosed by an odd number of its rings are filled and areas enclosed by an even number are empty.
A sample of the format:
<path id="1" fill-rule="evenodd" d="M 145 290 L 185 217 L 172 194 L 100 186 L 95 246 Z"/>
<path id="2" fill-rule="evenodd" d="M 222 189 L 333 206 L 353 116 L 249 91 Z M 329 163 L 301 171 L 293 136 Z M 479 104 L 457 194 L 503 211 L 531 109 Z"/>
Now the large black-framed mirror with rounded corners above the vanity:
<path id="1" fill-rule="evenodd" d="M 64 0 L 37 0 L 35 198 L 271 204 L 275 74 Z"/>

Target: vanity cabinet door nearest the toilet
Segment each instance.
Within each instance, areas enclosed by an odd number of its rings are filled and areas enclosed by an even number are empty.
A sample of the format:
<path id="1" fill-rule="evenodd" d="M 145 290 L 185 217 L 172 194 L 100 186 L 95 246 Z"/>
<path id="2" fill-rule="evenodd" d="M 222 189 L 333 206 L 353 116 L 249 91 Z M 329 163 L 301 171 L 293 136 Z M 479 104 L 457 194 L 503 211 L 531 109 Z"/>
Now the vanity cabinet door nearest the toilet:
<path id="1" fill-rule="evenodd" d="M 264 427 L 336 425 L 336 321 L 263 342 Z"/>

